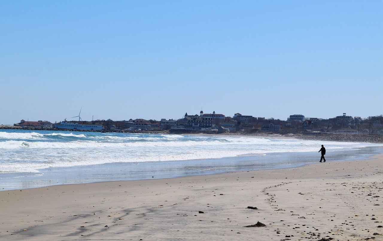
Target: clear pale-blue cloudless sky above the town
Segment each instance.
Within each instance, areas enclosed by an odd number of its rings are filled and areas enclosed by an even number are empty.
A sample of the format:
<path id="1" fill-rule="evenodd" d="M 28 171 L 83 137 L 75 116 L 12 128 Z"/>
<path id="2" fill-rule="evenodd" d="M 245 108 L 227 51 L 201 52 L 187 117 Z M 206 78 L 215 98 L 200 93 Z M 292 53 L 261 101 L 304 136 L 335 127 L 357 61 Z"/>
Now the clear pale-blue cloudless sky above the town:
<path id="1" fill-rule="evenodd" d="M 1 1 L 0 124 L 383 113 L 382 1 Z M 74 118 L 75 119 L 75 118 Z"/>

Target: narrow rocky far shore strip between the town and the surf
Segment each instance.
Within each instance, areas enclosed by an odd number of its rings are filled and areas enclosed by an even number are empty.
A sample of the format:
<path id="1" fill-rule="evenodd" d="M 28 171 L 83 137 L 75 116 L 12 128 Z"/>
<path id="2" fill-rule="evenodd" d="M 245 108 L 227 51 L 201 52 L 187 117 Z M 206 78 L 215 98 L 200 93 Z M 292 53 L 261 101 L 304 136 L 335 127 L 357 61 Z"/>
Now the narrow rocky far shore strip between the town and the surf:
<path id="1" fill-rule="evenodd" d="M 71 132 L 115 132 L 115 133 L 136 133 L 136 134 L 170 134 L 170 135 L 214 135 L 214 136 L 241 136 L 241 137 L 258 137 L 258 138 L 275 138 L 275 139 L 299 139 L 299 140 L 319 140 L 319 141 L 333 141 L 333 142 L 368 142 L 368 143 L 383 143 L 382 135 L 347 135 L 347 134 L 318 134 L 318 135 L 303 135 L 303 134 L 279 134 L 273 132 L 202 132 L 197 131 L 191 133 L 190 131 L 177 131 L 170 130 L 151 130 L 151 131 L 126 131 L 126 130 L 69 130 L 69 129 L 42 129 L 42 128 L 20 128 L 20 127 L 0 127 L 0 130 L 49 130 L 49 131 L 71 131 Z"/>

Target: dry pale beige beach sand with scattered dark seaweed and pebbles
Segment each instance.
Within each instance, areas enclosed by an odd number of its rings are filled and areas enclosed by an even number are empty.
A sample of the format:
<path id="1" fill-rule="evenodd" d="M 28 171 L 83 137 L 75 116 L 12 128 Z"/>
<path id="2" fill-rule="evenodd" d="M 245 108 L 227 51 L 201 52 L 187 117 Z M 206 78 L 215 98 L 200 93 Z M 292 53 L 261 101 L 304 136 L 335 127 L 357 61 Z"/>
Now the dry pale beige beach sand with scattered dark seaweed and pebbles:
<path id="1" fill-rule="evenodd" d="M 0 239 L 383 240 L 376 235 L 383 234 L 382 173 L 383 155 L 377 155 L 289 169 L 2 191 Z M 266 227 L 244 227 L 257 221 Z"/>

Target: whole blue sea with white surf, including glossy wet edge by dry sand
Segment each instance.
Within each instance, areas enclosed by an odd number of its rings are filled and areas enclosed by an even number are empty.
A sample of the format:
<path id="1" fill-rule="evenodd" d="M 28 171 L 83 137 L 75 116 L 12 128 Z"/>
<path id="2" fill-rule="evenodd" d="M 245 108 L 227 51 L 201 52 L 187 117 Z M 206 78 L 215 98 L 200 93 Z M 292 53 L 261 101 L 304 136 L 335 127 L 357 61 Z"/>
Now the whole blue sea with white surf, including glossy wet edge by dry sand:
<path id="1" fill-rule="evenodd" d="M 320 145 L 332 161 L 382 152 L 355 142 L 0 130 L 0 190 L 284 168 L 318 161 Z"/>

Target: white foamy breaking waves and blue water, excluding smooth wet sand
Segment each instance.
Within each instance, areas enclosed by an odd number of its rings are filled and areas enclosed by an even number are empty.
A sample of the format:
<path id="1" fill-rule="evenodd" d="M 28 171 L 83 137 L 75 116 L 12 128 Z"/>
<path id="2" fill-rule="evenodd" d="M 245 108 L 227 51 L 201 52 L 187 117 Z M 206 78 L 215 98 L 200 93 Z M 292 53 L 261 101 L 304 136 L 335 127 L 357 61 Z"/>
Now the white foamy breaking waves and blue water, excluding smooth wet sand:
<path id="1" fill-rule="evenodd" d="M 147 161 L 185 161 L 276 152 L 327 151 L 381 146 L 252 137 L 156 135 L 94 132 L 0 131 L 0 173 L 44 168 Z"/>

